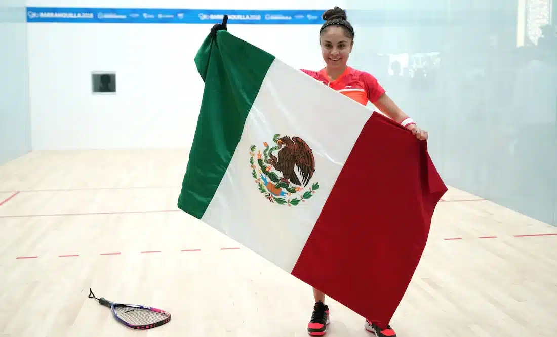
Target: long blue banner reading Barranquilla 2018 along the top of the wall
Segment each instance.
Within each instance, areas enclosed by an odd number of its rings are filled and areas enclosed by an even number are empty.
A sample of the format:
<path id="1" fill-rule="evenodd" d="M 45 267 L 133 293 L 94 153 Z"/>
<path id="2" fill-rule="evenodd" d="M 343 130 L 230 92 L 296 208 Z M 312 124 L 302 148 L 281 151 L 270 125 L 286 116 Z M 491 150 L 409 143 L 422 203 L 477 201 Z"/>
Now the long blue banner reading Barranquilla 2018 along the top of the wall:
<path id="1" fill-rule="evenodd" d="M 49 23 L 206 23 L 243 25 L 321 25 L 325 9 L 180 9 L 27 7 L 27 22 Z"/>

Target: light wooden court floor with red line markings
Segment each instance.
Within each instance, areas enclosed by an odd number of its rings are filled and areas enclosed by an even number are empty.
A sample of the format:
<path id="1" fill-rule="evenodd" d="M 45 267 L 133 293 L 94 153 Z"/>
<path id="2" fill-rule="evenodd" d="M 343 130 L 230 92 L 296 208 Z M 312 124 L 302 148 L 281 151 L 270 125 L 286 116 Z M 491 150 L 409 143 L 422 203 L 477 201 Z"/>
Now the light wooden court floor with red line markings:
<path id="1" fill-rule="evenodd" d="M 0 336 L 307 336 L 309 286 L 177 210 L 186 162 L 183 150 L 35 152 L 0 167 Z M 398 336 L 555 337 L 557 228 L 454 188 L 443 200 Z M 172 321 L 126 329 L 90 287 Z M 328 302 L 328 336 L 371 336 Z"/>

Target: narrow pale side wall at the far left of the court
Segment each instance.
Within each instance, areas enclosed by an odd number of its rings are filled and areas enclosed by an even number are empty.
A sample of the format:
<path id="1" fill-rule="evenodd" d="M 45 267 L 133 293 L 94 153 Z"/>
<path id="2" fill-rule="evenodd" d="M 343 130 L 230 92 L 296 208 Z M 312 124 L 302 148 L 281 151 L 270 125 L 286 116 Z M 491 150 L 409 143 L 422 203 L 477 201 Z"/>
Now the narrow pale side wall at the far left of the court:
<path id="1" fill-rule="evenodd" d="M 31 150 L 25 0 L 0 0 L 0 165 Z"/>

